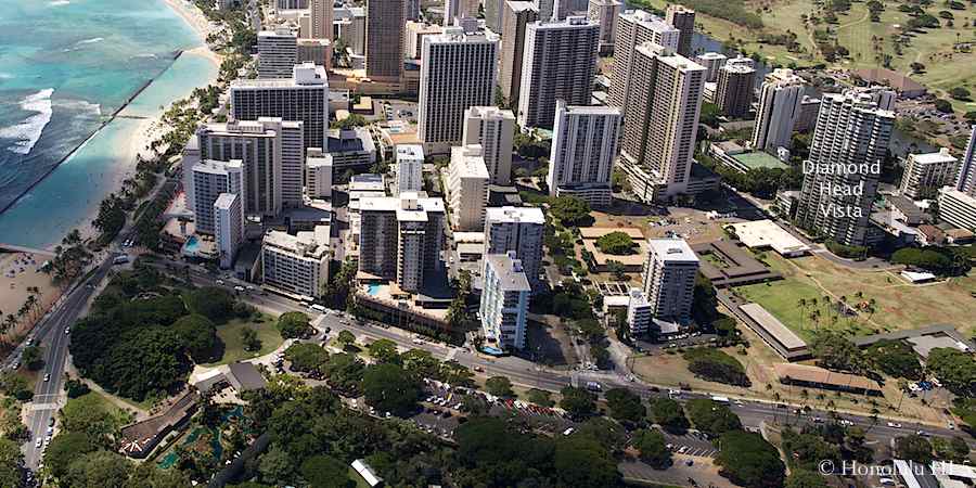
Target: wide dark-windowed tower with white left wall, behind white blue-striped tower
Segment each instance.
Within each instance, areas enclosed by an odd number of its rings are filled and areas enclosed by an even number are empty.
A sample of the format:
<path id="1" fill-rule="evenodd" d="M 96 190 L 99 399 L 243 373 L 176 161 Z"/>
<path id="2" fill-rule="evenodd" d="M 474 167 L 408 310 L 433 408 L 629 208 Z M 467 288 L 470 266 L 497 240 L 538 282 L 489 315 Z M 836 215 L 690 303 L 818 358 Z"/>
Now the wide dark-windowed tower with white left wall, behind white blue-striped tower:
<path id="1" fill-rule="evenodd" d="M 552 128 L 556 100 L 589 105 L 600 26 L 587 17 L 529 24 L 525 31 L 518 125 Z"/>

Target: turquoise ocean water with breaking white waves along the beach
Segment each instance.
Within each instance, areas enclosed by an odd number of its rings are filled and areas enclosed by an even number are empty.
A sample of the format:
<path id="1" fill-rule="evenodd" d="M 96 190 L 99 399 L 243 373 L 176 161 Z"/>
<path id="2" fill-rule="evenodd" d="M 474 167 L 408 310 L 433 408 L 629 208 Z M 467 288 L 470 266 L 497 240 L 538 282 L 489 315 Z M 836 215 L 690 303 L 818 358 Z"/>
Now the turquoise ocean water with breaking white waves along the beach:
<path id="1" fill-rule="evenodd" d="M 150 80 L 123 115 L 158 115 L 217 66 L 191 54 L 174 61 L 203 41 L 162 0 L 0 7 L 0 208 L 16 200 L 0 214 L 0 242 L 47 247 L 115 190 L 114 168 L 128 164 L 120 154 L 141 120 L 116 118 L 86 139 Z"/>

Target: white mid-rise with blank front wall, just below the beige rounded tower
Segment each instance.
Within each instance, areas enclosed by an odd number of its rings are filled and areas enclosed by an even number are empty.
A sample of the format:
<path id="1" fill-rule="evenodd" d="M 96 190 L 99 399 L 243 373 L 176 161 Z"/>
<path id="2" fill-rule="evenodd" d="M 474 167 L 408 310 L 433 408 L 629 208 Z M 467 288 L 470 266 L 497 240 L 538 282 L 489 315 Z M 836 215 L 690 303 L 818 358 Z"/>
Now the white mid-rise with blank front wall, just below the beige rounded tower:
<path id="1" fill-rule="evenodd" d="M 488 168 L 480 145 L 451 147 L 447 193 L 454 230 L 481 230 L 488 206 Z"/>

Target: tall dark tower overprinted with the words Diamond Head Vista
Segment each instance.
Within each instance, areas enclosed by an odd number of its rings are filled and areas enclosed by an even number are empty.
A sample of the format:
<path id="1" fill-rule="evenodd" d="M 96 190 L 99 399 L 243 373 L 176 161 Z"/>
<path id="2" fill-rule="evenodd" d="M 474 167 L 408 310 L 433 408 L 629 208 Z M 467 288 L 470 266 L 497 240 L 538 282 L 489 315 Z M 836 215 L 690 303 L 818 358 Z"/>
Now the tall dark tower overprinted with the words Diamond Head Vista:
<path id="1" fill-rule="evenodd" d="M 804 162 L 797 224 L 844 245 L 864 245 L 871 205 L 895 114 L 878 94 L 858 90 L 824 94 Z"/>

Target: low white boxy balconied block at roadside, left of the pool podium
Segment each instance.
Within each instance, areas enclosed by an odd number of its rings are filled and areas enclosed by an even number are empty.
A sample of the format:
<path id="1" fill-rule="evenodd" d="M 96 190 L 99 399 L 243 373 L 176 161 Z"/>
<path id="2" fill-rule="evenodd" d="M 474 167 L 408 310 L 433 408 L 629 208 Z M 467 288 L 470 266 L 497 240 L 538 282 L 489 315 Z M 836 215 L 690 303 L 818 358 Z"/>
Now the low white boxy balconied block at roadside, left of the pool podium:
<path id="1" fill-rule="evenodd" d="M 261 246 L 265 287 L 295 298 L 319 298 L 329 283 L 329 226 L 291 235 L 271 231 Z"/>

